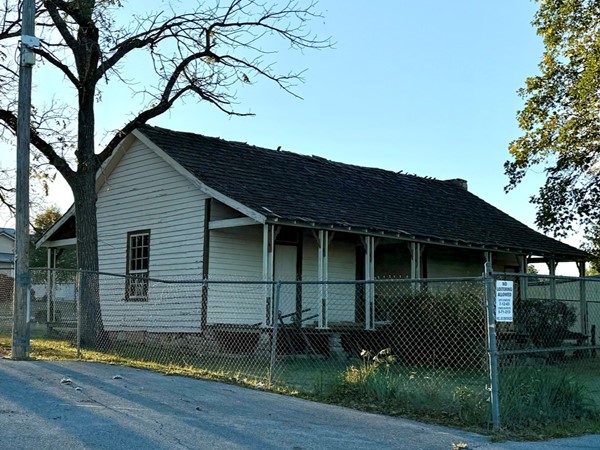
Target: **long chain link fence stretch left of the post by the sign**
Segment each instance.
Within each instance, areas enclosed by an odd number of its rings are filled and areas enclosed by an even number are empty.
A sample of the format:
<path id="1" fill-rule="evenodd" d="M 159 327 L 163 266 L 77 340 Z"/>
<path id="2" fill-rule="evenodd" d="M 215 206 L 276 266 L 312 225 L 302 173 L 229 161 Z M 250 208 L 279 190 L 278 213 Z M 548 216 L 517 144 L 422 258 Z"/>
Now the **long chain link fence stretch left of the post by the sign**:
<path id="1" fill-rule="evenodd" d="M 32 354 L 47 345 L 36 337 L 54 339 L 83 358 L 94 351 L 397 414 L 488 421 L 481 278 L 204 281 L 39 270 L 30 304 Z"/>

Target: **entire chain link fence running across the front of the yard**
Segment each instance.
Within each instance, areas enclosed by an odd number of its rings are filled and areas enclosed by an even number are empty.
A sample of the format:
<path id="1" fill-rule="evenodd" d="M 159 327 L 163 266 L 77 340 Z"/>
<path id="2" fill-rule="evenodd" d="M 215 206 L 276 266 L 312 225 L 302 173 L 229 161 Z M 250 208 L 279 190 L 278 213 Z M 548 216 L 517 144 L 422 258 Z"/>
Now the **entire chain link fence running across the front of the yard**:
<path id="1" fill-rule="evenodd" d="M 495 288 L 507 280 L 513 318 L 495 323 Z M 0 302 L 0 336 L 10 336 L 11 307 Z M 61 342 L 84 359 L 469 426 L 600 412 L 600 279 L 264 282 L 35 270 L 29 311 L 32 354 Z"/>

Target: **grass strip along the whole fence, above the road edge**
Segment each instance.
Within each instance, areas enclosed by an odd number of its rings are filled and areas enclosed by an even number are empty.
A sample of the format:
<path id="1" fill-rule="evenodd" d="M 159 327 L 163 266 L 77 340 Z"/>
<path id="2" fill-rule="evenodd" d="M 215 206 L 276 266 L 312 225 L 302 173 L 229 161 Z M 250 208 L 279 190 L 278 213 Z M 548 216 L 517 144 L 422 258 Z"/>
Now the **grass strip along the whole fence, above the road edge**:
<path id="1" fill-rule="evenodd" d="M 0 337 L 0 355 L 10 338 Z M 389 355 L 362 361 L 277 358 L 268 386 L 268 357 L 192 355 L 183 349 L 118 343 L 111 352 L 83 350 L 81 360 L 119 364 L 253 388 L 489 433 L 485 370 L 407 367 Z M 65 340 L 34 338 L 31 357 L 78 360 Z M 376 359 L 377 358 L 377 359 Z M 504 367 L 500 372 L 499 439 L 547 439 L 600 433 L 600 359 L 559 366 Z"/>

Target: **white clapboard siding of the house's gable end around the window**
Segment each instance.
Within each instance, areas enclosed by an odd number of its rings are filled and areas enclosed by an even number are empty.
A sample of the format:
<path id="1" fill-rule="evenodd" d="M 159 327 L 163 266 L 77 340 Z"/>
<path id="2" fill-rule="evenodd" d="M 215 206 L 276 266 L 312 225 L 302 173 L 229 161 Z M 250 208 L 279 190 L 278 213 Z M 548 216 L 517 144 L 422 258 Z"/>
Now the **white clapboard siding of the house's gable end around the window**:
<path id="1" fill-rule="evenodd" d="M 205 198 L 162 158 L 135 141 L 98 192 L 100 270 L 124 274 L 127 233 L 150 229 L 150 277 L 199 278 Z M 200 329 L 197 285 L 151 282 L 148 301 L 126 302 L 125 280 L 102 276 L 100 299 L 107 331 Z"/>

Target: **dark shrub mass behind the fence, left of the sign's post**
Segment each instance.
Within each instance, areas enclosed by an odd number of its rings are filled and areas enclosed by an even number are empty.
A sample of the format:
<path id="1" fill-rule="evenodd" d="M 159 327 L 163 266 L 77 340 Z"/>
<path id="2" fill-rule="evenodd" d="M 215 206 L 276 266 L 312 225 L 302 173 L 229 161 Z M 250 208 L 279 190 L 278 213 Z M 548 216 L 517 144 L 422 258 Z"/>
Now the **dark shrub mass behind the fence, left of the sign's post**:
<path id="1" fill-rule="evenodd" d="M 379 298 L 378 314 L 389 324 L 341 335 L 344 350 L 389 348 L 404 364 L 480 369 L 485 367 L 485 308 L 481 292 L 406 292 Z"/>

